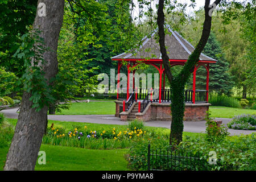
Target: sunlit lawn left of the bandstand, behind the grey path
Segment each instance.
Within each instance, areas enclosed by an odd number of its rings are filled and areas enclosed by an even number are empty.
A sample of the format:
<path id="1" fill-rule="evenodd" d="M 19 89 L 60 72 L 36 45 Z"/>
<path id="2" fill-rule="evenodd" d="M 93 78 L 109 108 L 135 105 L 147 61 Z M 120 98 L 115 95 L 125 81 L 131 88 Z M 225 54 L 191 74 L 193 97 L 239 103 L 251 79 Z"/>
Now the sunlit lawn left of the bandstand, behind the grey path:
<path id="1" fill-rule="evenodd" d="M 114 101 L 108 102 L 75 102 L 71 104 L 69 110 L 61 110 L 63 115 L 84 115 L 84 114 L 115 114 Z"/>

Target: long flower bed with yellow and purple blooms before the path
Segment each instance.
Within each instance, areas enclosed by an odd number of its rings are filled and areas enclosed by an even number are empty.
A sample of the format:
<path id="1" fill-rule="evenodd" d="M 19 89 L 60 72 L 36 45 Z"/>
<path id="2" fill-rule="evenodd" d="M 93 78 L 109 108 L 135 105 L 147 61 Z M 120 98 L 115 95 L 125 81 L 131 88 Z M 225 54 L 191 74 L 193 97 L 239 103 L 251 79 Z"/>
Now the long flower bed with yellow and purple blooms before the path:
<path id="1" fill-rule="evenodd" d="M 52 124 L 47 129 L 47 135 L 43 137 L 43 144 L 53 144 L 62 146 L 92 148 L 92 149 L 113 149 L 127 148 L 131 145 L 131 140 L 135 138 L 144 138 L 146 130 L 127 128 L 126 130 L 98 129 L 93 130 L 84 126 L 75 128 L 72 131 L 65 131 L 61 128 L 55 128 Z"/>

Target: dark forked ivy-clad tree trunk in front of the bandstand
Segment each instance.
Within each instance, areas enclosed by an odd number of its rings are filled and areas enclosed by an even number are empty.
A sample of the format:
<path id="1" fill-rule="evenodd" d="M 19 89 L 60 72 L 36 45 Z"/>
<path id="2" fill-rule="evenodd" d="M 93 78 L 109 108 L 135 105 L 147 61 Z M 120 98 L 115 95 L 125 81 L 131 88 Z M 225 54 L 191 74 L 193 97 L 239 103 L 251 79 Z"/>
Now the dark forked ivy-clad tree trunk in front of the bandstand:
<path id="1" fill-rule="evenodd" d="M 214 3 L 216 6 L 220 3 L 221 0 L 216 0 Z M 162 59 L 164 64 L 164 70 L 166 71 L 166 75 L 168 81 L 171 84 L 172 94 L 171 94 L 171 113 L 172 113 L 172 122 L 171 122 L 171 133 L 170 133 L 170 144 L 176 145 L 182 141 L 182 134 L 183 134 L 183 117 L 185 111 L 185 104 L 184 104 L 184 89 L 185 84 L 188 81 L 193 68 L 199 61 L 199 56 L 203 51 L 205 44 L 208 41 L 210 35 L 210 27 L 212 25 L 212 17 L 209 15 L 210 7 L 209 7 L 210 0 L 205 0 L 205 20 L 203 25 L 203 31 L 201 35 L 201 39 L 199 43 L 195 47 L 195 50 L 191 53 L 188 57 L 187 62 L 185 63 L 183 69 L 180 71 L 179 75 L 173 77 L 170 71 L 170 63 L 169 57 L 167 55 L 165 43 L 164 43 L 164 0 L 159 0 L 158 6 L 158 35 L 159 35 L 159 45 L 160 45 L 160 52 L 162 53 Z"/>

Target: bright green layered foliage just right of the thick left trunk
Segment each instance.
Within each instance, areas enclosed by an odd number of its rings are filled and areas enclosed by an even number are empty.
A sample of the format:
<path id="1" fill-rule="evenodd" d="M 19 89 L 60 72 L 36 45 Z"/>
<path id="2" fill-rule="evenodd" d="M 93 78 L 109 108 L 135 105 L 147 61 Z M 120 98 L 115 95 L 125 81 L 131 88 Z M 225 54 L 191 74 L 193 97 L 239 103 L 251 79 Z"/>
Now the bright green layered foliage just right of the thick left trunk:
<path id="1" fill-rule="evenodd" d="M 52 92 L 57 111 L 68 109 L 70 106 L 67 104 L 68 101 L 75 100 L 77 95 L 83 96 L 86 89 L 93 91 L 97 83 L 97 77 L 90 76 L 97 68 L 86 68 L 88 63 L 92 61 L 84 59 L 86 53 L 83 50 L 86 45 L 75 42 L 73 28 L 70 28 L 70 25 L 66 23 L 64 22 L 60 32 L 57 50 L 59 70 Z"/>

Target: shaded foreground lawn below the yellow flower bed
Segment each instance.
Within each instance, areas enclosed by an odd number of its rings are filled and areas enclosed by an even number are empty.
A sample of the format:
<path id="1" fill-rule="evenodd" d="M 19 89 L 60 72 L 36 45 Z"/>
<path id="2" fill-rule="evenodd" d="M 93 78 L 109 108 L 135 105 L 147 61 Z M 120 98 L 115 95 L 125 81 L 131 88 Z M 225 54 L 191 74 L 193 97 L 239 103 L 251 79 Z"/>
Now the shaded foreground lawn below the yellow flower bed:
<path id="1" fill-rule="evenodd" d="M 46 165 L 36 163 L 38 171 L 127 171 L 125 154 L 128 149 L 89 150 L 42 144 L 46 152 Z M 0 148 L 0 170 L 3 169 L 8 148 Z M 113 157 L 114 156 L 114 157 Z"/>

